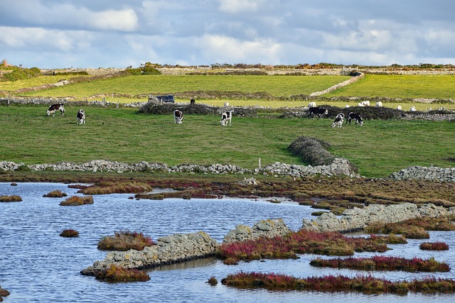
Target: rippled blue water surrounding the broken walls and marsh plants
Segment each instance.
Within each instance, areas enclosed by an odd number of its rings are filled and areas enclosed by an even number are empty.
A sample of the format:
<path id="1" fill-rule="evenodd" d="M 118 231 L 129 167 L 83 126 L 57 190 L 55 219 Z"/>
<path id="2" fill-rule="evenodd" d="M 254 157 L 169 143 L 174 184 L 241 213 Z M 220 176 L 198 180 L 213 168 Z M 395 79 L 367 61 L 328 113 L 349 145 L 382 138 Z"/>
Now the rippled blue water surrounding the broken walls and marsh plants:
<path id="1" fill-rule="evenodd" d="M 311 268 L 309 260 L 316 255 L 301 255 L 299 260 L 266 260 L 223 265 L 215 259 L 154 268 L 148 282 L 107 284 L 94 277 L 80 275 L 80 270 L 105 258 L 97 250 L 102 236 L 114 231 L 141 231 L 156 239 L 173 233 L 205 231 L 222 241 L 237 224 L 252 226 L 261 219 L 282 218 L 293 230 L 302 219 L 311 219 L 308 206 L 294 202 L 272 204 L 247 199 L 166 199 L 162 201 L 128 199 L 132 194 L 94 196 L 95 203 L 85 206 L 59 206 L 64 198 L 43 198 L 55 189 L 68 196 L 77 189 L 67 184 L 0 183 L 0 195 L 18 194 L 23 202 L 0 203 L 0 285 L 11 294 L 4 302 L 454 302 L 455 296 L 444 294 L 321 293 L 270 292 L 237 290 L 218 283 L 206 283 L 215 276 L 218 281 L 229 273 L 242 271 L 279 272 L 296 277 L 342 274 L 355 276 L 355 270 Z M 78 238 L 62 238 L 60 232 L 73 228 Z M 406 258 L 434 257 L 449 263 L 451 272 L 435 273 L 437 277 L 454 279 L 455 232 L 430 232 L 430 240 L 410 240 L 405 245 L 390 246 L 383 255 Z M 444 241 L 449 251 L 419 250 L 422 241 Z M 360 253 L 355 256 L 370 256 Z M 368 272 L 360 272 L 368 274 Z M 428 273 L 372 272 L 390 280 L 412 280 Z"/>

